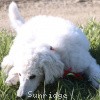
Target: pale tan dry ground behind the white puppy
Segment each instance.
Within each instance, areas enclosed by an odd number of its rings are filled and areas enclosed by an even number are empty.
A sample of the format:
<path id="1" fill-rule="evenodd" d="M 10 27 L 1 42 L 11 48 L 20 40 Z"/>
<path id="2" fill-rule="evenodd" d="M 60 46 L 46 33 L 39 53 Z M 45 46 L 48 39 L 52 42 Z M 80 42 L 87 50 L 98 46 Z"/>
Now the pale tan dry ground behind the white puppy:
<path id="1" fill-rule="evenodd" d="M 0 30 L 11 30 L 8 5 L 12 0 L 0 0 Z M 85 24 L 90 18 L 100 21 L 100 0 L 15 0 L 27 20 L 36 15 L 59 16 L 76 24 Z"/>

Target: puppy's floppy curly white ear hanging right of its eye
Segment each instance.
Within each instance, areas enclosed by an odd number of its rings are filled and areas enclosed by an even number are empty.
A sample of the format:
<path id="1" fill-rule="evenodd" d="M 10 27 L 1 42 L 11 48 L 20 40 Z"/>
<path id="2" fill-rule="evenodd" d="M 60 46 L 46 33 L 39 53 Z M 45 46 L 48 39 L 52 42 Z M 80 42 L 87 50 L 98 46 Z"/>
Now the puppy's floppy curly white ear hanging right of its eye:
<path id="1" fill-rule="evenodd" d="M 52 83 L 55 78 L 60 78 L 64 73 L 64 64 L 57 59 L 46 59 L 42 61 L 42 67 L 45 74 L 45 83 Z"/>

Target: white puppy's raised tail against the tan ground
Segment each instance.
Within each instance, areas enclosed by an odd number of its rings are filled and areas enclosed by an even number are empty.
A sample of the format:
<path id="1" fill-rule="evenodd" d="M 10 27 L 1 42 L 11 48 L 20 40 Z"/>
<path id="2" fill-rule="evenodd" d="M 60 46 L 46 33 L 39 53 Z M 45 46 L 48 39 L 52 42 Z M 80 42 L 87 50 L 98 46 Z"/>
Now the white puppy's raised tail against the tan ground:
<path id="1" fill-rule="evenodd" d="M 9 5 L 9 19 L 11 21 L 12 27 L 16 31 L 18 30 L 18 28 L 20 28 L 21 25 L 25 23 L 15 2 L 12 2 Z"/>

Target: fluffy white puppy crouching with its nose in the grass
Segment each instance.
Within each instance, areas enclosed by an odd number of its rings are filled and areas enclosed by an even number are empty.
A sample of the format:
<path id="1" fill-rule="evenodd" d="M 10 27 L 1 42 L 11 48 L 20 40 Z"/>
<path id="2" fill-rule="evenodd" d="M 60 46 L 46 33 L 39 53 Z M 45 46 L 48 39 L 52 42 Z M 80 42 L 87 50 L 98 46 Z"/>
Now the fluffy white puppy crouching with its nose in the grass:
<path id="1" fill-rule="evenodd" d="M 84 72 L 99 88 L 100 66 L 90 55 L 89 42 L 79 28 L 52 16 L 36 16 L 25 22 L 14 2 L 9 6 L 9 18 L 17 36 L 1 66 L 8 75 L 8 85 L 20 82 L 18 97 L 27 98 L 43 79 L 52 83 L 70 67 L 72 72 Z"/>

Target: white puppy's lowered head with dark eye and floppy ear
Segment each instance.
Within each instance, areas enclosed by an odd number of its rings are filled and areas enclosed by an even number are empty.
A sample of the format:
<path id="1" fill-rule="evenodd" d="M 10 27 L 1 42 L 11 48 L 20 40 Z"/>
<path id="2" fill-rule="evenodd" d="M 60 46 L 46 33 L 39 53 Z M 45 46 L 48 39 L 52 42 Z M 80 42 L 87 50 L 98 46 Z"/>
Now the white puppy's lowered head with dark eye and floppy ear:
<path id="1" fill-rule="evenodd" d="M 62 77 L 64 65 L 60 57 L 50 46 L 40 46 L 34 49 L 27 67 L 19 73 L 20 86 L 18 97 L 31 97 L 41 81 L 45 84 L 54 82 L 55 78 Z"/>

